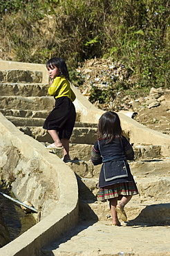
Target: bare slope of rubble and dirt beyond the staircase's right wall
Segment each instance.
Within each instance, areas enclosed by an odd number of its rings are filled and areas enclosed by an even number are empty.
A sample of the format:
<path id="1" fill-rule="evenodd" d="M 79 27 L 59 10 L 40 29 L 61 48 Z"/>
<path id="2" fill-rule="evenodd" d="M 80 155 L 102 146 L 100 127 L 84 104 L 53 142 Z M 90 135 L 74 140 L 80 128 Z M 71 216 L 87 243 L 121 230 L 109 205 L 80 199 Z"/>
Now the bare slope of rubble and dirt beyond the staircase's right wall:
<path id="1" fill-rule="evenodd" d="M 133 84 L 124 65 L 111 60 L 92 59 L 77 68 L 82 85 L 77 87 L 96 107 L 105 111 L 124 111 L 142 125 L 170 135 L 170 90 L 151 88 L 149 91 L 117 88 L 116 82 Z"/>

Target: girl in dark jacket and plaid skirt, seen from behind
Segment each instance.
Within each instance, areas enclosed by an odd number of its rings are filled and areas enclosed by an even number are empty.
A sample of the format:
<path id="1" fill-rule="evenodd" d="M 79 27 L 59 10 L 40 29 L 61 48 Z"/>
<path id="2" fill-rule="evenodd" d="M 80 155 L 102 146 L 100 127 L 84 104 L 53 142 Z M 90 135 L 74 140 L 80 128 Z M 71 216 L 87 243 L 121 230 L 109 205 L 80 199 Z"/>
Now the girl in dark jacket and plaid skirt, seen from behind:
<path id="1" fill-rule="evenodd" d="M 126 221 L 124 206 L 138 188 L 129 168 L 127 160 L 133 160 L 134 152 L 130 143 L 122 136 L 120 118 L 117 113 L 108 111 L 99 121 L 97 141 L 92 149 L 91 161 L 93 165 L 100 165 L 99 200 L 108 199 L 111 208 L 112 225 L 120 226 L 120 217 Z M 117 201 L 120 200 L 119 203 Z"/>

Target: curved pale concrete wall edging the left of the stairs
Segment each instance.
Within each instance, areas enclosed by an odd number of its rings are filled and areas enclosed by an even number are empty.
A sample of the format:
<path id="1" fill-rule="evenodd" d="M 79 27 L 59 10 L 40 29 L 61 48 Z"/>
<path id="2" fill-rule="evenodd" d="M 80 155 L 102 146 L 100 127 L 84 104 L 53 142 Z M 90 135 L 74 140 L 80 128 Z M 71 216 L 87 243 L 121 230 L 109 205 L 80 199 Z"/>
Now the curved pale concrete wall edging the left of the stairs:
<path id="1" fill-rule="evenodd" d="M 66 230 L 69 230 L 78 221 L 78 188 L 75 173 L 56 155 L 46 152 L 41 143 L 23 134 L 15 125 L 0 113 L 0 136 L 3 140 L 12 141 L 14 147 L 19 148 L 26 157 L 39 156 L 46 175 L 57 179 L 59 183 L 59 201 L 52 212 L 35 226 L 24 232 L 0 249 L 3 256 L 34 256 L 54 239 L 57 239 Z"/>

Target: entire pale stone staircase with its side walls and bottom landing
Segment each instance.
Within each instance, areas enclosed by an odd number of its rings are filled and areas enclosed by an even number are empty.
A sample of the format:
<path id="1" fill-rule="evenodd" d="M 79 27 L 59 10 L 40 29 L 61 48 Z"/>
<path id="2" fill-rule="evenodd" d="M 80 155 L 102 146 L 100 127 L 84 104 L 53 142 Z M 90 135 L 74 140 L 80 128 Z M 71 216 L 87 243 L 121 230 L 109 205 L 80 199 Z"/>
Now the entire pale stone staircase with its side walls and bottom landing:
<path id="1" fill-rule="evenodd" d="M 96 201 L 100 166 L 93 167 L 89 161 L 96 138 L 96 124 L 103 111 L 96 109 L 73 86 L 77 95 L 74 102 L 77 122 L 70 141 L 70 154 L 77 161 L 64 163 L 56 156 L 57 152 L 46 152 L 43 145 L 50 143 L 48 134 L 41 126 L 53 103 L 53 99 L 46 95 L 46 67 L 0 61 L 0 71 L 1 179 L 6 185 L 10 183 L 19 201 L 28 199 L 35 205 L 39 212 L 34 213 L 33 217 L 40 219 L 35 226 L 3 246 L 0 255 L 119 255 L 116 253 L 120 252 L 138 255 L 139 251 L 139 255 L 143 256 L 141 250 L 135 250 L 133 245 L 131 248 L 128 246 L 130 240 L 127 237 L 124 248 L 118 242 L 119 239 L 115 242 L 115 250 L 111 250 L 113 240 L 107 242 L 108 250 L 104 246 L 105 237 L 115 233 L 109 229 L 110 220 L 106 218 L 109 213 L 108 204 Z M 121 239 L 127 232 L 131 233 L 132 229 L 142 230 L 150 225 L 155 234 L 161 231 L 160 237 L 164 233 L 166 246 L 165 249 L 159 247 L 159 253 L 169 253 L 169 229 L 158 227 L 166 228 L 170 225 L 170 136 L 147 129 L 123 113 L 118 114 L 124 134 L 133 143 L 136 160 L 131 163 L 131 170 L 140 190 L 140 195 L 134 197 L 126 208 L 128 228 L 126 232 L 120 230 L 118 237 Z M 79 223 L 79 218 L 87 222 Z M 89 222 L 91 220 L 93 223 Z M 146 236 L 145 232 L 151 236 L 154 230 L 149 233 L 147 228 L 147 231 L 141 232 L 141 241 Z M 95 233 L 100 237 L 99 240 L 94 238 Z M 156 246 L 159 236 L 153 237 Z M 130 238 L 134 239 L 134 236 Z M 98 246 L 102 241 L 102 247 Z M 146 243 L 142 243 L 142 246 L 149 253 L 158 255 L 158 250 L 152 250 Z M 139 248 L 139 244 L 136 244 L 136 248 Z"/>

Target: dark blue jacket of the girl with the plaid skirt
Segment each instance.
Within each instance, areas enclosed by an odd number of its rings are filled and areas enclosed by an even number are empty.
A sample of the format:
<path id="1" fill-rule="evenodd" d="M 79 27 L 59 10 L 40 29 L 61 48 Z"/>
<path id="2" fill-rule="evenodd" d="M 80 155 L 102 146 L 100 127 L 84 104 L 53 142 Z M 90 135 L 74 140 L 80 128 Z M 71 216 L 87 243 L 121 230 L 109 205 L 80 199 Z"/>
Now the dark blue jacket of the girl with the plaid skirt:
<path id="1" fill-rule="evenodd" d="M 123 136 L 121 140 L 115 137 L 110 143 L 107 138 L 97 140 L 92 149 L 93 165 L 102 164 L 99 187 L 115 183 L 134 181 L 127 160 L 133 160 L 134 152 L 130 143 Z"/>

